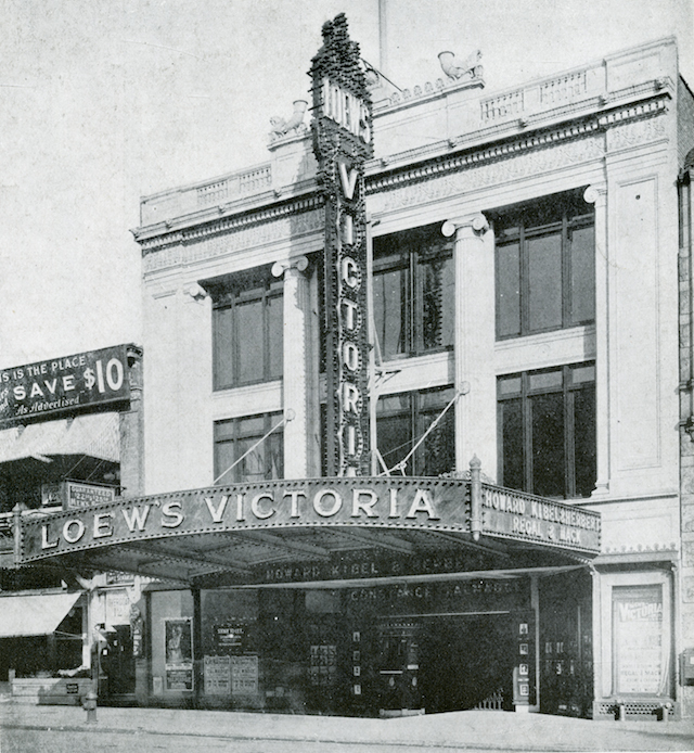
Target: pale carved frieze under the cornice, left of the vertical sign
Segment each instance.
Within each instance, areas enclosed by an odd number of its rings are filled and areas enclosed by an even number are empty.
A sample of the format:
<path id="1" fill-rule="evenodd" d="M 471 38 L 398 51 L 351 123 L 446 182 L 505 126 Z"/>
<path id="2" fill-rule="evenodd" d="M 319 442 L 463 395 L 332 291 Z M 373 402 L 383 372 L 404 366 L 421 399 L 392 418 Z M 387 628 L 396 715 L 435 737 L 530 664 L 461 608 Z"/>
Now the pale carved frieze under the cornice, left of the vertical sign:
<path id="1" fill-rule="evenodd" d="M 181 264 L 206 261 L 239 251 L 296 239 L 312 232 L 321 232 L 325 219 L 322 208 L 301 214 L 279 217 L 255 225 L 224 227 L 213 233 L 181 232 L 175 244 L 151 250 L 142 259 L 144 272 L 155 272 Z M 198 229 L 195 229 L 198 230 Z M 156 251 L 156 253 L 152 253 Z"/>

